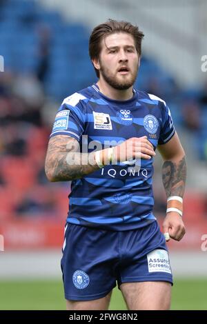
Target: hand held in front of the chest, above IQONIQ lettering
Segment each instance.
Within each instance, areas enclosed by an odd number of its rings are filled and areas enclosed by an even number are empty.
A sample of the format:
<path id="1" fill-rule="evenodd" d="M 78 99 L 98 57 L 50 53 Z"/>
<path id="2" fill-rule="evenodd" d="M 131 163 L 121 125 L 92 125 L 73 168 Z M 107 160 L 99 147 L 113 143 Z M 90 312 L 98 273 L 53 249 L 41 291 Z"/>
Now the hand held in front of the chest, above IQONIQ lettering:
<path id="1" fill-rule="evenodd" d="M 153 145 L 148 141 L 147 136 L 132 137 L 115 146 L 115 159 L 119 162 L 128 161 L 130 159 L 151 159 L 155 156 Z"/>

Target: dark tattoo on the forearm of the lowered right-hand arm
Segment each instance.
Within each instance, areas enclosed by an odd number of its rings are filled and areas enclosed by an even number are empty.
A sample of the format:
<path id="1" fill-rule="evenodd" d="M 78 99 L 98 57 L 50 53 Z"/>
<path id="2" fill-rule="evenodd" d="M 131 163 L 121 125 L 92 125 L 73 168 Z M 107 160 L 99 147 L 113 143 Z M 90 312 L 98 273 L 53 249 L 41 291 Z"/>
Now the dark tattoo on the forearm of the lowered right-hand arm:
<path id="1" fill-rule="evenodd" d="M 165 161 L 162 180 L 167 196 L 183 196 L 186 184 L 186 158 L 179 162 Z"/>

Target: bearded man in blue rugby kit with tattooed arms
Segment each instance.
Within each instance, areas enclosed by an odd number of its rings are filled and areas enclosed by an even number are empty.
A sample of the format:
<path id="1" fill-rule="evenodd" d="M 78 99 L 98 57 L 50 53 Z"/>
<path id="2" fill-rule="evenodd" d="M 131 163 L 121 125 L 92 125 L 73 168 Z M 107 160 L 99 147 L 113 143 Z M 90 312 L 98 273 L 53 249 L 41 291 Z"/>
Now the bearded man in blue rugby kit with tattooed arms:
<path id="1" fill-rule="evenodd" d="M 172 273 L 167 239 L 185 234 L 184 150 L 165 101 L 136 90 L 144 34 L 110 19 L 90 35 L 99 80 L 63 100 L 46 174 L 72 181 L 61 270 L 68 310 L 107 310 L 118 284 L 129 310 L 168 310 Z M 152 213 L 155 150 L 164 159 L 164 234 Z"/>

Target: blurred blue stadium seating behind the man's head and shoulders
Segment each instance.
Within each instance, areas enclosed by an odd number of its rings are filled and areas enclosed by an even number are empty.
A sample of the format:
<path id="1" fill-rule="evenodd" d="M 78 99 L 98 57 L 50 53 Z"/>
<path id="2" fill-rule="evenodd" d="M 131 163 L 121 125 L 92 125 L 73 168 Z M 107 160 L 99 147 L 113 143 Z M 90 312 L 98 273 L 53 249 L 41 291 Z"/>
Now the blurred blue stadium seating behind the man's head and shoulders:
<path id="1" fill-rule="evenodd" d="M 49 68 L 44 79 L 46 93 L 61 100 L 95 82 L 97 77 L 88 56 L 88 29 L 81 23 L 66 23 L 59 12 L 41 8 L 34 0 L 8 0 L 1 8 L 0 54 L 5 58 L 6 67 L 20 73 L 37 70 L 40 60 L 38 27 L 41 30 L 42 26 L 51 30 Z M 198 99 L 199 90 L 185 90 L 175 98 L 174 79 L 153 58 L 143 56 L 135 87 L 148 89 L 150 78 L 152 81 L 155 78 L 161 88 L 162 99 L 168 103 L 175 125 L 181 125 L 181 100 Z M 205 139 L 207 109 L 201 111 L 201 132 Z"/>

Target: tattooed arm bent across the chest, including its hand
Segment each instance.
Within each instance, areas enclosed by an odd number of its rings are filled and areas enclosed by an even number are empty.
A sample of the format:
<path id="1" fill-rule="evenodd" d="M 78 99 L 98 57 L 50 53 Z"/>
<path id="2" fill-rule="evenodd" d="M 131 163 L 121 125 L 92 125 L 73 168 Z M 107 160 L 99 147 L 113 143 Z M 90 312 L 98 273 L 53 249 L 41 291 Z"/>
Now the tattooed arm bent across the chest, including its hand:
<path id="1" fill-rule="evenodd" d="M 108 148 L 100 149 L 99 163 L 108 165 L 110 162 L 117 163 L 140 157 L 151 159 L 155 152 L 146 136 L 142 136 L 115 146 L 112 156 L 111 160 Z M 95 161 L 95 151 L 89 154 L 80 153 L 76 139 L 67 135 L 56 135 L 51 137 L 48 144 L 45 170 L 49 181 L 70 181 L 99 170 L 99 166 Z"/>

